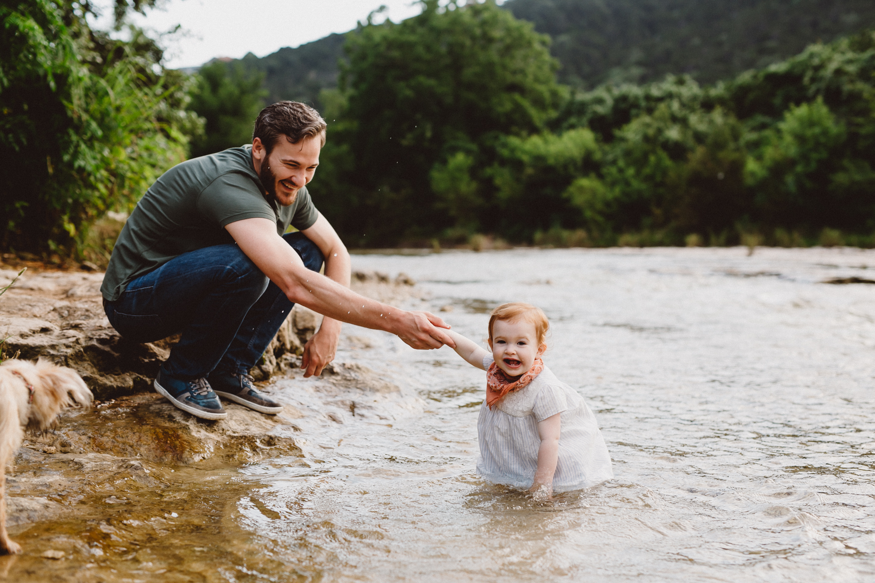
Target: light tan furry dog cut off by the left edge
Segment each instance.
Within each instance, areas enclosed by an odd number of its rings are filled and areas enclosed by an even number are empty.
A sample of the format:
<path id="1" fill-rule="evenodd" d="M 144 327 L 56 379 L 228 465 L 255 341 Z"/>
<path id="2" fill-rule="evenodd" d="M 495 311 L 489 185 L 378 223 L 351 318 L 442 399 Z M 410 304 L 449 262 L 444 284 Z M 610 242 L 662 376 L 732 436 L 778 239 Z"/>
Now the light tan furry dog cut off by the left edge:
<path id="1" fill-rule="evenodd" d="M 73 402 L 90 406 L 93 395 L 71 368 L 44 360 L 7 360 L 0 364 L 0 552 L 21 547 L 6 532 L 6 466 L 25 437 L 25 429 L 52 427 L 58 413 Z"/>

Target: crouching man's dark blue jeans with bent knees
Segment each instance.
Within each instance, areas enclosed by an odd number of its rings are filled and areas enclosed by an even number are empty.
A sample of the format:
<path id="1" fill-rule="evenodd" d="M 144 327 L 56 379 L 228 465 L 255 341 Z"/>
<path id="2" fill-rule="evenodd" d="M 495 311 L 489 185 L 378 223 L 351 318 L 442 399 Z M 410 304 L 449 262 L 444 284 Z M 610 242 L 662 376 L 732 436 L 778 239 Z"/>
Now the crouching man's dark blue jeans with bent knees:
<path id="1" fill-rule="evenodd" d="M 312 271 L 325 256 L 302 233 L 283 239 Z M 289 316 L 292 302 L 236 245 L 183 253 L 137 277 L 115 302 L 109 323 L 133 342 L 182 333 L 164 364 L 172 377 L 206 377 L 220 370 L 246 374 Z"/>

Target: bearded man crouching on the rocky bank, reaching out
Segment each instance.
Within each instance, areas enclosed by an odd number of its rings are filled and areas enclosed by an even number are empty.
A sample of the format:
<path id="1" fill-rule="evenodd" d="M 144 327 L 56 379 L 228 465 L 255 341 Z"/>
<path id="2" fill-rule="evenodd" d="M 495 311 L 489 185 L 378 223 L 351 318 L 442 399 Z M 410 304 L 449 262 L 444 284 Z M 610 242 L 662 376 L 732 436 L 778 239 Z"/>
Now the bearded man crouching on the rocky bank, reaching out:
<path id="1" fill-rule="evenodd" d="M 278 413 L 282 406 L 258 392 L 248 372 L 295 303 L 325 316 L 304 347 L 306 377 L 332 361 L 341 322 L 387 330 L 416 349 L 454 345 L 437 316 L 348 289 L 349 253 L 305 186 L 325 126 L 303 103 L 264 108 L 251 147 L 167 170 L 119 235 L 101 288 L 104 309 L 135 342 L 182 333 L 155 379 L 174 406 L 222 419 L 221 396 Z M 298 232 L 283 234 L 289 226 Z"/>

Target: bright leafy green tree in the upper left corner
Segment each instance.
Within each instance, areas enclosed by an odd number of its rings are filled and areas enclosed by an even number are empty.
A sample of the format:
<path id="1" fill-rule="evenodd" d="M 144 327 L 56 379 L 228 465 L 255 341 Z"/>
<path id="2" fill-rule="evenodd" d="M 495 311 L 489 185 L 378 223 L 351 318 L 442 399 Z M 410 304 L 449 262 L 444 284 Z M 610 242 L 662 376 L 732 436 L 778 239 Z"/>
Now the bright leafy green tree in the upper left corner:
<path id="1" fill-rule="evenodd" d="M 116 15 L 128 10 L 120 0 Z M 149 3 L 133 6 L 142 10 Z M 0 246 L 74 253 L 88 225 L 185 159 L 197 116 L 142 31 L 92 31 L 89 3 L 0 6 Z M 121 26 L 121 23 L 119 23 Z"/>

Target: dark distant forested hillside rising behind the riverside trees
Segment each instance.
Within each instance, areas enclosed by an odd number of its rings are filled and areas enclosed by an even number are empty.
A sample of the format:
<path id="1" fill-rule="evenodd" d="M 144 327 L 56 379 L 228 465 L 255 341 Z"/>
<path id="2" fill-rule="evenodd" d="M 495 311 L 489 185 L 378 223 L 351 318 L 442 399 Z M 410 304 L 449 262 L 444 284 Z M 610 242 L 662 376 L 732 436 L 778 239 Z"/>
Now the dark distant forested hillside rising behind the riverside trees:
<path id="1" fill-rule="evenodd" d="M 559 81 L 584 88 L 669 73 L 710 84 L 875 26 L 870 0 L 507 0 L 501 8 L 549 35 Z M 344 40 L 332 34 L 242 63 L 264 74 L 269 101 L 321 108 L 321 90 L 337 87 Z"/>

